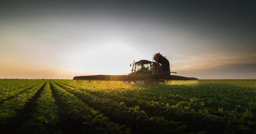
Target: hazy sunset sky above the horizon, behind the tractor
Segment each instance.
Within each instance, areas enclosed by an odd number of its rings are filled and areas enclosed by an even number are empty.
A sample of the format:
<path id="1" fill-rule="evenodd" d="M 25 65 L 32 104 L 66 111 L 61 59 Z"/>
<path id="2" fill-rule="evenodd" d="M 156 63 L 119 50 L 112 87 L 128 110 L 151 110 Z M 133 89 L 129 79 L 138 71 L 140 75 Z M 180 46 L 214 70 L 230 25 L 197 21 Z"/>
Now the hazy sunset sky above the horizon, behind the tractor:
<path id="1" fill-rule="evenodd" d="M 256 79 L 253 1 L 0 1 L 0 78 L 126 75 L 160 52 L 175 75 Z"/>

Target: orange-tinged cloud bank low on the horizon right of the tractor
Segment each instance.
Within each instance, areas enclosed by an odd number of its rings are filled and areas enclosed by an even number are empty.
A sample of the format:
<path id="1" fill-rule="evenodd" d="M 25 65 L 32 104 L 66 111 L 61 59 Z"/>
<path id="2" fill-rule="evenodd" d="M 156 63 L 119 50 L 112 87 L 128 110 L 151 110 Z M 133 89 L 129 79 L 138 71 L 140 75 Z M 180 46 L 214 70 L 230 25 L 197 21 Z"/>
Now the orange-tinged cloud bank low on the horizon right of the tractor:
<path id="1" fill-rule="evenodd" d="M 256 53 L 229 51 L 188 58 L 186 65 L 172 66 L 172 71 L 199 79 L 256 79 Z M 174 62 L 178 64 L 178 62 Z"/>

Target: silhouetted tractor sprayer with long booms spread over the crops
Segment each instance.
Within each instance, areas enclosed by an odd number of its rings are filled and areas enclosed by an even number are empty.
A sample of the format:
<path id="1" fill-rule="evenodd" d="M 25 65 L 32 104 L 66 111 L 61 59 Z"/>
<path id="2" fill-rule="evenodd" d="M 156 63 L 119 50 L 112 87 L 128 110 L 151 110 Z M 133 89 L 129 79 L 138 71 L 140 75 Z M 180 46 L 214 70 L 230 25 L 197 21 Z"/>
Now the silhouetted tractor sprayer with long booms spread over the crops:
<path id="1" fill-rule="evenodd" d="M 74 80 L 94 80 L 94 81 L 124 81 L 124 83 L 138 84 L 159 84 L 166 83 L 170 80 L 198 80 L 194 77 L 183 77 L 178 75 L 171 75 L 170 63 L 168 59 L 163 57 L 160 53 L 153 55 L 152 61 L 140 60 L 130 64 L 132 66 L 132 73 L 129 75 L 91 75 L 91 76 L 77 76 Z"/>

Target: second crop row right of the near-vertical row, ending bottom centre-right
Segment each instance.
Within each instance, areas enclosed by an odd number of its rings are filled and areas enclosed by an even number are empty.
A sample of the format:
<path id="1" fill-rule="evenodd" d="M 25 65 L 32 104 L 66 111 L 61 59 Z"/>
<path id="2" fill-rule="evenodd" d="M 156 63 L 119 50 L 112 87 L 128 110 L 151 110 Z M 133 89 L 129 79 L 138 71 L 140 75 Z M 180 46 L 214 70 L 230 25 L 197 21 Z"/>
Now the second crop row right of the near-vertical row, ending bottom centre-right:
<path id="1" fill-rule="evenodd" d="M 117 103 L 112 99 L 100 98 L 86 93 L 86 91 L 60 83 L 56 84 L 80 97 L 88 104 L 92 104 L 95 108 L 122 120 L 122 122 L 132 126 L 134 130 L 139 130 L 139 132 L 182 133 L 187 127 L 183 122 L 174 122 L 158 116 L 149 117 L 145 111 L 140 110 L 140 106 L 127 107 L 124 102 Z"/>

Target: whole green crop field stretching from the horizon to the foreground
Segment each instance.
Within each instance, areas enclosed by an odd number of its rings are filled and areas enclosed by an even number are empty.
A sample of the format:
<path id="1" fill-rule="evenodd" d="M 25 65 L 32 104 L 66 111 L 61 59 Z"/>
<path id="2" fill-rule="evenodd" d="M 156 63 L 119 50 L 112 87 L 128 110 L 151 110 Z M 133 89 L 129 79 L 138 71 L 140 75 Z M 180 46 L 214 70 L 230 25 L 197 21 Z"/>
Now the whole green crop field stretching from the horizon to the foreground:
<path id="1" fill-rule="evenodd" d="M 256 80 L 0 80 L 2 134 L 256 134 Z"/>

